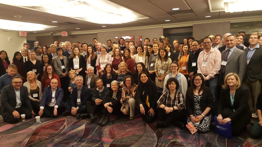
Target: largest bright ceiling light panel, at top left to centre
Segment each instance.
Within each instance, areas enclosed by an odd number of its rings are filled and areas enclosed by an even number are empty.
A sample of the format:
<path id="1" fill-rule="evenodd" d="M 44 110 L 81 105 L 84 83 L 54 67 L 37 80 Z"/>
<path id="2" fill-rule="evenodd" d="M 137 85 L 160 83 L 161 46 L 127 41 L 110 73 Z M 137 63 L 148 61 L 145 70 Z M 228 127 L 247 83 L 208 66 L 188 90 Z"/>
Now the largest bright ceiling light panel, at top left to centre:
<path id="1" fill-rule="evenodd" d="M 148 18 L 107 0 L 56 0 L 55 4 L 53 0 L 0 0 L 0 3 L 96 24 L 122 24 Z"/>

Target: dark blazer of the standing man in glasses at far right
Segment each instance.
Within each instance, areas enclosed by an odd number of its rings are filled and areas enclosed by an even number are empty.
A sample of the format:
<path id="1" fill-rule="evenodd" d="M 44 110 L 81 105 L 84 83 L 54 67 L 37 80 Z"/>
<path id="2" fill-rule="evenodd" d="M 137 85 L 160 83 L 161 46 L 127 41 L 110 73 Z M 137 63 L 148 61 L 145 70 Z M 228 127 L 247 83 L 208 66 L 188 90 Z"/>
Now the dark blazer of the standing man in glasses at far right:
<path id="1" fill-rule="evenodd" d="M 248 54 L 248 49 L 249 48 L 244 49 L 246 55 Z M 254 54 L 252 55 L 249 61 L 249 64 L 247 65 L 247 70 L 244 76 L 244 80 L 248 78 L 252 82 L 255 82 L 257 80 L 262 82 L 262 60 L 261 58 L 262 58 L 262 47 L 259 46 L 259 48 L 256 48 Z"/>

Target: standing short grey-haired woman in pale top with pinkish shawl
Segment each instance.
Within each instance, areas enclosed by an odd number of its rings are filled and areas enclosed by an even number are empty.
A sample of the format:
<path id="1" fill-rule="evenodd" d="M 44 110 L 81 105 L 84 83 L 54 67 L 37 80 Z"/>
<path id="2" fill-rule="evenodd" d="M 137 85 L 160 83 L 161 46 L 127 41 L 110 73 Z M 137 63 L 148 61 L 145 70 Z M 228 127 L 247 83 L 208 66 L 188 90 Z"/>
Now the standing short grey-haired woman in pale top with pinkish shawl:
<path id="1" fill-rule="evenodd" d="M 106 64 L 112 64 L 111 55 L 106 52 L 107 46 L 105 44 L 102 44 L 100 50 L 102 54 L 100 54 L 96 59 L 96 68 L 97 68 L 96 75 L 98 77 L 104 74 L 103 70 L 105 70 Z"/>

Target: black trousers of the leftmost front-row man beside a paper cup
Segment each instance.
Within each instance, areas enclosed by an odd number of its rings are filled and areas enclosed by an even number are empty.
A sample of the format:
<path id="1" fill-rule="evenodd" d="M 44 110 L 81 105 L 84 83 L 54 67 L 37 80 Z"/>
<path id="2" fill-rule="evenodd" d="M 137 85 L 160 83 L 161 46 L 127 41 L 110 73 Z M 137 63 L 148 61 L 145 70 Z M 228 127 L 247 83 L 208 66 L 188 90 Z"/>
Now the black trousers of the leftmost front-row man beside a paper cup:
<path id="1" fill-rule="evenodd" d="M 17 111 L 19 115 L 25 114 L 25 119 L 32 118 L 32 112 L 24 105 L 19 108 L 15 108 L 15 111 Z M 19 120 L 20 118 L 15 118 L 12 113 L 8 115 L 7 119 L 4 119 L 4 121 L 7 123 L 18 123 Z"/>

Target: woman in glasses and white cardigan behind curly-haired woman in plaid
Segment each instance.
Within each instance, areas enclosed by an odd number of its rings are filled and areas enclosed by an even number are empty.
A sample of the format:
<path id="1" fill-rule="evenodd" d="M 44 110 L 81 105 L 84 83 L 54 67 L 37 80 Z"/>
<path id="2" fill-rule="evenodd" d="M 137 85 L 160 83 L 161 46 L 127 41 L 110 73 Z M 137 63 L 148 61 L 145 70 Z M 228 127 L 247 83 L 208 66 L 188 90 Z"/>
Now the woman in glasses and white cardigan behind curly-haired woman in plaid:
<path id="1" fill-rule="evenodd" d="M 178 72 L 178 63 L 177 61 L 174 61 L 171 63 L 170 65 L 170 69 L 171 69 L 171 73 L 169 73 L 164 80 L 164 85 L 166 85 L 166 81 L 169 78 L 176 78 L 179 82 L 179 88 L 178 91 L 180 91 L 183 95 L 186 94 L 187 92 L 187 79 L 185 78 L 185 76 Z M 164 87 L 163 89 L 163 93 L 165 93 L 167 91 L 166 87 Z"/>

